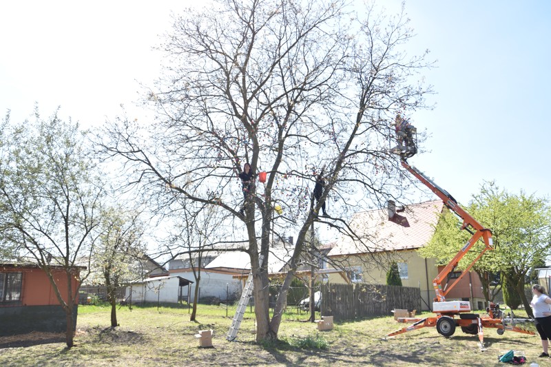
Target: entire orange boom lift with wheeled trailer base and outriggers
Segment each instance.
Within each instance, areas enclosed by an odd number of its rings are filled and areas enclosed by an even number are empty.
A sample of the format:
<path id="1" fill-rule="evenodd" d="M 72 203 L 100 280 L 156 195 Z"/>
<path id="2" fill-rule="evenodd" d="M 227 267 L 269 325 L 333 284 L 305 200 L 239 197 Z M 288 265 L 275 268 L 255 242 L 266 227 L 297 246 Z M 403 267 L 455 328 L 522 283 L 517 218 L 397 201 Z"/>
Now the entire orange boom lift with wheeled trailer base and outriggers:
<path id="1" fill-rule="evenodd" d="M 532 331 L 528 331 L 517 326 L 508 325 L 503 322 L 503 312 L 499 309 L 499 305 L 490 303 L 490 307 L 486 308 L 487 315 L 479 315 L 477 313 L 470 313 L 470 302 L 466 301 L 446 301 L 446 295 L 453 289 L 455 284 L 461 280 L 461 278 L 470 271 L 472 265 L 475 264 L 481 258 L 482 255 L 488 250 L 493 249 L 492 242 L 492 231 L 490 229 L 484 228 L 472 218 L 463 208 L 461 208 L 457 201 L 451 196 L 446 190 L 441 189 L 438 185 L 425 176 L 421 171 L 412 167 L 408 164 L 405 159 L 406 157 L 402 156 L 402 166 L 410 171 L 413 176 L 418 180 L 424 183 L 433 193 L 435 193 L 443 202 L 448 209 L 453 211 L 461 220 L 463 224 L 461 225 L 461 230 L 465 229 L 468 231 L 472 237 L 466 242 L 464 247 L 461 248 L 459 253 L 440 271 L 440 273 L 435 277 L 433 281 L 433 286 L 435 287 L 436 297 L 433 303 L 433 312 L 437 315 L 435 317 L 426 317 L 424 319 L 419 317 L 399 317 L 398 322 L 408 323 L 413 322 L 413 325 L 399 329 L 386 335 L 387 337 L 394 337 L 399 334 L 406 333 L 408 331 L 417 330 L 419 328 L 424 328 L 426 326 L 436 326 L 436 330 L 441 335 L 445 337 L 450 337 L 455 333 L 455 328 L 457 326 L 461 327 L 461 331 L 466 334 L 478 335 L 480 341 L 481 350 L 484 349 L 484 333 L 483 329 L 486 328 L 497 328 L 497 333 L 503 335 L 503 333 L 508 331 L 515 331 L 517 333 L 524 333 L 534 335 Z M 446 283 L 444 289 L 442 289 L 442 282 L 448 279 L 448 275 L 454 271 L 459 261 L 466 255 L 466 253 L 472 248 L 472 246 L 478 241 L 484 241 L 484 249 L 479 253 L 477 258 L 473 260 L 466 269 L 461 272 L 461 275 L 457 277 L 455 282 L 450 284 Z"/>

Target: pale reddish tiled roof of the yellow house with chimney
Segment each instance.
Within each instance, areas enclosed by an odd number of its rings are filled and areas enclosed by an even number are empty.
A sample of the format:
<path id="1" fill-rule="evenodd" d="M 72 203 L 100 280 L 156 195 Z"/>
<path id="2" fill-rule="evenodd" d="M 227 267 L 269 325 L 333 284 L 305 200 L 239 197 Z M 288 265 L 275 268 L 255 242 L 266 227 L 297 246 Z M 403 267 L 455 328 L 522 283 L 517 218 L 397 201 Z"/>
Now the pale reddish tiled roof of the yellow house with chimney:
<path id="1" fill-rule="evenodd" d="M 443 207 L 441 200 L 408 205 L 391 220 L 386 208 L 356 213 L 350 227 L 362 240 L 343 237 L 328 255 L 419 249 L 432 237 Z"/>

